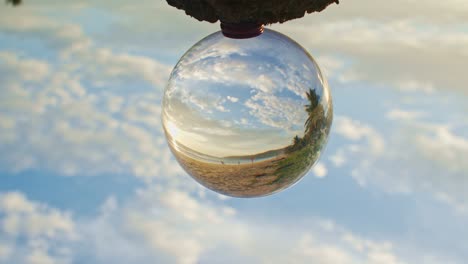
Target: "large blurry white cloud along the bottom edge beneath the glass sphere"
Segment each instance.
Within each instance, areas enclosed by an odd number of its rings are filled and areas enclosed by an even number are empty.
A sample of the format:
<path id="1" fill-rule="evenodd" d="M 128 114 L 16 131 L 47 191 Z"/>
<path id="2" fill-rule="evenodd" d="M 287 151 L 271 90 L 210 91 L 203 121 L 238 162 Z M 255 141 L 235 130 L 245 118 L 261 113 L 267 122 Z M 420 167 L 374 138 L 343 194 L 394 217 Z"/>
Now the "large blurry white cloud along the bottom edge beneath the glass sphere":
<path id="1" fill-rule="evenodd" d="M 365 239 L 329 220 L 284 230 L 279 222 L 237 218 L 223 201 L 180 188 L 148 188 L 128 203 L 110 199 L 106 204 L 97 221 L 83 223 L 94 230 L 88 250 L 96 251 L 90 255 L 99 256 L 99 263 L 211 263 L 216 256 L 243 263 L 404 263 L 392 243 Z M 108 250 L 122 243 L 132 246 Z"/>

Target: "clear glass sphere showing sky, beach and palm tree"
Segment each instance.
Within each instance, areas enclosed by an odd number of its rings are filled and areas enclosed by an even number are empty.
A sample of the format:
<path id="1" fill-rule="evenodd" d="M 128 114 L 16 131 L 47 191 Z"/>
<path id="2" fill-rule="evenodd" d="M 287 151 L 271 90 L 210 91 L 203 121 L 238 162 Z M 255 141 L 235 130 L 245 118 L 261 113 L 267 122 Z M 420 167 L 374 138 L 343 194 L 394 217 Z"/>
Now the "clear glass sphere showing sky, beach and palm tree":
<path id="1" fill-rule="evenodd" d="M 268 29 L 249 39 L 217 32 L 195 44 L 172 71 L 162 109 L 180 165 L 235 197 L 272 194 L 301 179 L 327 142 L 332 115 L 318 65 Z"/>

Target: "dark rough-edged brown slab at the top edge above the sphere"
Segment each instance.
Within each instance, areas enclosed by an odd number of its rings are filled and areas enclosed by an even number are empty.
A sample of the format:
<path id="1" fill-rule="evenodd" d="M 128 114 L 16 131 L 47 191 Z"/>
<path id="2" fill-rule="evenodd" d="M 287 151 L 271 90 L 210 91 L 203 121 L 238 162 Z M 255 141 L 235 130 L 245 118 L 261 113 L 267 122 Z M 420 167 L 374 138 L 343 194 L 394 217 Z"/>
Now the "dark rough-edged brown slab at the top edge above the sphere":
<path id="1" fill-rule="evenodd" d="M 200 21 L 273 24 L 320 12 L 338 0 L 167 0 Z"/>

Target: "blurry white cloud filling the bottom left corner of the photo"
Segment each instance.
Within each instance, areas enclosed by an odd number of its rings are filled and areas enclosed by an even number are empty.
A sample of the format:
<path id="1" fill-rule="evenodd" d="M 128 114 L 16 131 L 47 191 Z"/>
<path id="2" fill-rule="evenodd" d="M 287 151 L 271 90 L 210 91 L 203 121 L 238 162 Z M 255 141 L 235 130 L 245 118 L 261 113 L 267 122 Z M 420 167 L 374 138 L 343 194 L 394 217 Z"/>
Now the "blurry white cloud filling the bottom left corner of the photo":
<path id="1" fill-rule="evenodd" d="M 0 237 L 0 261 L 31 264 L 71 263 L 68 243 L 79 238 L 70 213 L 19 192 L 0 194 Z"/>

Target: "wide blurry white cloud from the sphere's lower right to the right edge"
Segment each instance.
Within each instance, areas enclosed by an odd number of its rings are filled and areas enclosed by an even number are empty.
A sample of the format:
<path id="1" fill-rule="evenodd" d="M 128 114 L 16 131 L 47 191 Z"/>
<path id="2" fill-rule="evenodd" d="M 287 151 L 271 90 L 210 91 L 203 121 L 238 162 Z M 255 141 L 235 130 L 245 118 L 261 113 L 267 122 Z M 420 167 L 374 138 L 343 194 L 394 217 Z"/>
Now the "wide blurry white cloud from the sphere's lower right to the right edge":
<path id="1" fill-rule="evenodd" d="M 330 158 L 350 170 L 361 185 L 390 193 L 429 193 L 459 213 L 468 212 L 465 189 L 468 138 L 462 123 L 426 121 L 428 114 L 399 108 L 387 117 L 396 124 L 383 140 L 374 128 L 337 117 L 334 132 L 348 139 Z M 397 123 L 398 122 L 398 123 Z"/>

